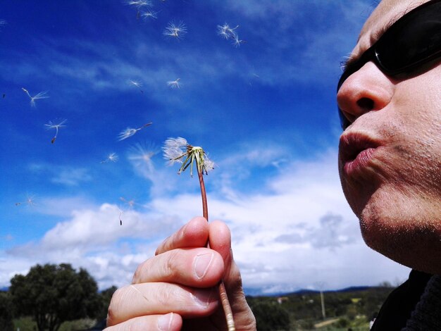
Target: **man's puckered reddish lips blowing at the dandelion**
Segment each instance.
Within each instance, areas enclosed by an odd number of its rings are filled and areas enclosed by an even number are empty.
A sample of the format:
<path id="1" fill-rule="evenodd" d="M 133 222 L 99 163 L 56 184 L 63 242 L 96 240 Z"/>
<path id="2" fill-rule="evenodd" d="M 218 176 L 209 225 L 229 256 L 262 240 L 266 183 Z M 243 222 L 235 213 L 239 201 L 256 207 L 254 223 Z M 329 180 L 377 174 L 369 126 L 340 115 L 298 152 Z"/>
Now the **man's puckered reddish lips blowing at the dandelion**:
<path id="1" fill-rule="evenodd" d="M 348 132 L 342 135 L 339 163 L 344 175 L 352 177 L 361 174 L 379 146 L 379 142 L 365 134 Z"/>

